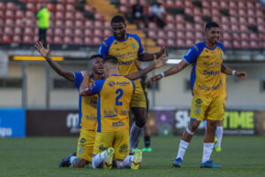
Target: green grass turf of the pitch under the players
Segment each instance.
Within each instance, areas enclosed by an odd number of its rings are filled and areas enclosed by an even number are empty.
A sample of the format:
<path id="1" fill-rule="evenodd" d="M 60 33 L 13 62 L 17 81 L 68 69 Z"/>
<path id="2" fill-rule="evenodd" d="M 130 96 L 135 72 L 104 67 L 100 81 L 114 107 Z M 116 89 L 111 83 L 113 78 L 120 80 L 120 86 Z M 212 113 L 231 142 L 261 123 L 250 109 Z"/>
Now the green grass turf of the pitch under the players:
<path id="1" fill-rule="evenodd" d="M 93 170 L 58 168 L 58 162 L 76 148 L 77 137 L 0 139 L 0 177 L 254 177 L 265 176 L 264 136 L 225 136 L 223 151 L 212 159 L 221 169 L 201 169 L 202 136 L 194 136 L 181 168 L 173 168 L 179 137 L 153 137 L 152 152 L 143 156 L 141 169 Z M 142 140 L 141 140 L 142 142 Z M 140 143 L 142 146 L 142 143 Z"/>

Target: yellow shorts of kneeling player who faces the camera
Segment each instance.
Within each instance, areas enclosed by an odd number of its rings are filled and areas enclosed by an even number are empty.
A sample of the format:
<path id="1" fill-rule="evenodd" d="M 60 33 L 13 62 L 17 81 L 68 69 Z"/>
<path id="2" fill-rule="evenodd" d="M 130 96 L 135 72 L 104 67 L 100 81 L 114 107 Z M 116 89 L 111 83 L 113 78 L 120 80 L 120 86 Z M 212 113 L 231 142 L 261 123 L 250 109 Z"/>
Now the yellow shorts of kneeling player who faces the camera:
<path id="1" fill-rule="evenodd" d="M 95 144 L 95 131 L 80 129 L 76 157 L 92 162 L 92 153 Z"/>

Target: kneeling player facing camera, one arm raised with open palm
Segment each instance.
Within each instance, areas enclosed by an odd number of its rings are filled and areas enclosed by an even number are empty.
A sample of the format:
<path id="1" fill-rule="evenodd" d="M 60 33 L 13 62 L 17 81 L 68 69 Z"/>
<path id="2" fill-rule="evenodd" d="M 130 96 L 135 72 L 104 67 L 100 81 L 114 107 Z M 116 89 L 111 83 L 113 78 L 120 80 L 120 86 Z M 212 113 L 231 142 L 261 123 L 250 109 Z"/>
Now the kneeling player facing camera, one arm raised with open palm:
<path id="1" fill-rule="evenodd" d="M 92 73 L 79 72 L 73 73 L 58 65 L 49 56 L 48 48 L 44 48 L 42 42 L 35 44 L 36 49 L 45 58 L 49 65 L 66 80 L 72 81 L 77 89 L 81 85 L 87 87 L 92 85 L 96 80 L 101 80 L 103 74 L 103 58 L 100 55 L 90 57 L 90 66 Z M 87 163 L 92 161 L 92 152 L 95 143 L 95 127 L 96 127 L 96 104 L 97 96 L 79 96 L 79 141 L 76 156 L 64 158 L 60 163 L 60 167 L 72 165 L 73 167 L 85 167 Z"/>

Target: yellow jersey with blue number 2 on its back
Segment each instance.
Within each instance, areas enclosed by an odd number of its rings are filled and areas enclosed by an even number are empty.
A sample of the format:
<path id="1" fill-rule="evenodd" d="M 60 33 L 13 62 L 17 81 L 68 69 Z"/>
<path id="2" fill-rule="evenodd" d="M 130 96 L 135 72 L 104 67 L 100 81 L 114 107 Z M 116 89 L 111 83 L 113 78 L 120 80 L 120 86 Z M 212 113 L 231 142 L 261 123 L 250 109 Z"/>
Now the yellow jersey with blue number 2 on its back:
<path id="1" fill-rule="evenodd" d="M 134 89 L 133 81 L 117 74 L 93 83 L 87 91 L 99 95 L 97 132 L 129 130 L 129 111 Z"/>

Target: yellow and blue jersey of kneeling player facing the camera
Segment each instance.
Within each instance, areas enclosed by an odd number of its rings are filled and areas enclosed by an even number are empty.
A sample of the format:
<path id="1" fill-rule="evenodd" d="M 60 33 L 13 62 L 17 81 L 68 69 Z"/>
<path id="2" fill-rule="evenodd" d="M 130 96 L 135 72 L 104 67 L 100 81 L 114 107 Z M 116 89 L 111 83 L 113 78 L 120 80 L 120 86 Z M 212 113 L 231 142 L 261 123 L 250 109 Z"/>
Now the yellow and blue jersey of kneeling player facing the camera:
<path id="1" fill-rule="evenodd" d="M 75 80 L 74 85 L 77 89 L 84 81 L 82 73 L 74 73 Z M 92 76 L 87 81 L 87 87 L 91 86 L 95 82 Z M 81 96 L 79 95 L 79 128 L 95 131 L 96 128 L 96 105 L 97 95 L 95 96 Z"/>

